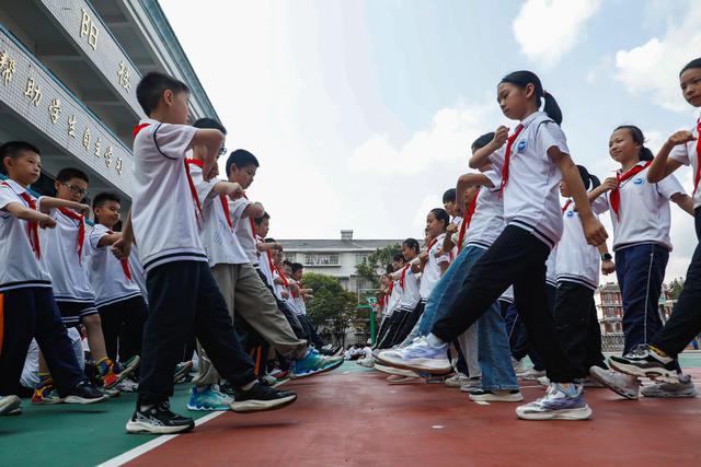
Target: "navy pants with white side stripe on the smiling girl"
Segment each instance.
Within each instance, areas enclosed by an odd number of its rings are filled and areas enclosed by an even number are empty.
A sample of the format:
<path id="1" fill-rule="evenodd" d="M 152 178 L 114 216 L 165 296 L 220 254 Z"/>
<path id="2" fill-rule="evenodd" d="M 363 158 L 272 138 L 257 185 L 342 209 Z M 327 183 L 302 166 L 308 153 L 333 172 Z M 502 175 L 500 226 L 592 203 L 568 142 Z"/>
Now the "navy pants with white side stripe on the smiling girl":
<path id="1" fill-rule="evenodd" d="M 616 252 L 616 276 L 623 302 L 623 354 L 662 329 L 657 311 L 669 250 L 655 243 Z"/>

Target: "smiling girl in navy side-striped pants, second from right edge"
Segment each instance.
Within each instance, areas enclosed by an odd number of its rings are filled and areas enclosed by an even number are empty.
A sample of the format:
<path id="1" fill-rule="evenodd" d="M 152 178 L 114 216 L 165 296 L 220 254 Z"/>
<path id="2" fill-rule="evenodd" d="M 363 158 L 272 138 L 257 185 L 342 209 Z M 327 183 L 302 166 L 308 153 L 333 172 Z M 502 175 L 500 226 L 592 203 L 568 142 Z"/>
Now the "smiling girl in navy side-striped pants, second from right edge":
<path id="1" fill-rule="evenodd" d="M 623 302 L 623 354 L 662 329 L 657 307 L 671 252 L 669 201 L 693 213 L 693 201 L 674 175 L 647 182 L 653 154 L 644 142 L 635 126 L 613 130 L 609 152 L 621 168 L 589 194 L 594 209 L 608 210 L 613 224 L 616 275 Z M 639 397 L 640 381 L 635 377 L 596 366 L 591 375 L 628 399 Z"/>

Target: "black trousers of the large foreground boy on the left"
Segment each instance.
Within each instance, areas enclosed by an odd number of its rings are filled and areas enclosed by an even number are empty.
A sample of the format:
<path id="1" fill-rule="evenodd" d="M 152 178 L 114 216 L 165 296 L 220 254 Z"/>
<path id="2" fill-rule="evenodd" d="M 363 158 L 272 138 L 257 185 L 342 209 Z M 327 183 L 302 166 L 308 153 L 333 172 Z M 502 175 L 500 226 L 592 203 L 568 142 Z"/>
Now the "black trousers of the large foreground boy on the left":
<path id="1" fill-rule="evenodd" d="M 173 261 L 149 271 L 149 315 L 141 346 L 137 404 L 158 404 L 173 395 L 173 371 L 192 332 L 207 349 L 221 376 L 234 386 L 255 381 L 227 303 L 205 261 Z"/>

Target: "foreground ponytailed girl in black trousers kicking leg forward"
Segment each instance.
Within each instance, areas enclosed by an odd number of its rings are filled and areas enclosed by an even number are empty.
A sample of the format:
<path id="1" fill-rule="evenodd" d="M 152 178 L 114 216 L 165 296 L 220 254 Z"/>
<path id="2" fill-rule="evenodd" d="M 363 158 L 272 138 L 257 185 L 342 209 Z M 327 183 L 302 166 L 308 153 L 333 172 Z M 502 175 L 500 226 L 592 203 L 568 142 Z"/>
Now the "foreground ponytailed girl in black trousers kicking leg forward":
<path id="1" fill-rule="evenodd" d="M 462 290 L 432 334 L 402 351 L 394 365 L 410 370 L 445 372 L 447 342 L 463 332 L 514 284 L 516 304 L 552 382 L 547 395 L 516 409 L 527 420 L 583 420 L 591 416 L 583 387 L 575 383 L 576 369 L 558 342 L 558 331 L 545 303 L 545 260 L 562 235 L 562 211 L 558 194 L 564 178 L 579 207 L 587 242 L 600 244 L 606 231 L 591 212 L 564 133 L 560 108 L 530 71 L 506 75 L 497 87 L 504 115 L 520 120 L 513 136 L 499 127 L 487 145 L 478 150 L 470 166 L 491 161 L 502 173 L 506 227 L 472 266 Z M 539 112 L 541 100 L 545 112 Z M 504 148 L 506 143 L 506 148 Z"/>

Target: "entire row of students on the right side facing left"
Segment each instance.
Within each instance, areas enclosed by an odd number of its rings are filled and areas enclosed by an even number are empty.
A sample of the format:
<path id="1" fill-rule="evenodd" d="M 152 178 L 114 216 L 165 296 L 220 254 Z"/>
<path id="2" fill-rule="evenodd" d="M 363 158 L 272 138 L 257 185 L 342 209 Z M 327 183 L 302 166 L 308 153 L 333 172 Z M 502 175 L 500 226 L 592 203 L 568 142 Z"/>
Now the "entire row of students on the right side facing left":
<path id="1" fill-rule="evenodd" d="M 701 107 L 701 59 L 679 79 L 687 102 Z M 445 209 L 427 213 L 425 238 L 403 242 L 382 277 L 377 346 L 361 364 L 389 373 L 390 384 L 445 381 L 476 401 L 521 401 L 517 376 L 538 380 L 545 395 L 516 408 L 528 420 L 588 419 L 585 387 L 628 399 L 694 397 L 677 355 L 701 331 L 698 246 L 665 325 L 657 304 L 671 202 L 696 218 L 701 238 L 701 120 L 656 156 L 639 127 L 614 128 L 609 154 L 620 168 L 600 183 L 574 164 L 562 112 L 536 74 L 509 73 L 497 100 L 519 124 L 473 142 L 476 172 L 445 192 Z M 673 174 L 681 165 L 693 168 L 691 196 Z M 606 211 L 613 255 L 598 220 Z M 623 304 L 623 357 L 608 365 L 594 300 L 601 272 L 616 272 Z M 641 387 L 646 377 L 654 384 Z"/>

